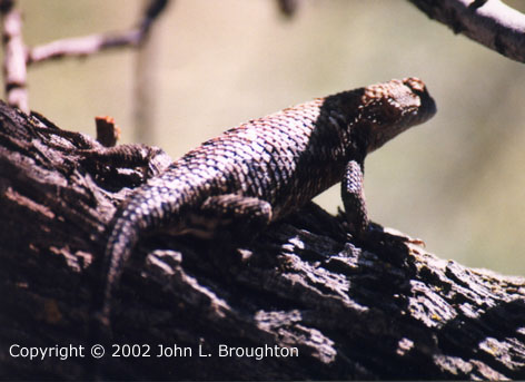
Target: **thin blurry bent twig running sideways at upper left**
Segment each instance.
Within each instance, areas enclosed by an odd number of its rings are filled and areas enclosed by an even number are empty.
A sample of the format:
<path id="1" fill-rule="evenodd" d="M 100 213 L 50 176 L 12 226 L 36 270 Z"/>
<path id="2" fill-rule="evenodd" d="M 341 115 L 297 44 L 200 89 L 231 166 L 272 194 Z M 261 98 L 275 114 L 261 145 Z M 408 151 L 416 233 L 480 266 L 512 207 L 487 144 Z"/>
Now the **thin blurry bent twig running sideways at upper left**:
<path id="1" fill-rule="evenodd" d="M 112 48 L 138 47 L 146 40 L 153 21 L 168 3 L 169 0 L 151 0 L 139 26 L 131 30 L 62 39 L 34 47 L 29 50 L 27 63 L 34 65 L 61 57 L 86 57 Z"/>

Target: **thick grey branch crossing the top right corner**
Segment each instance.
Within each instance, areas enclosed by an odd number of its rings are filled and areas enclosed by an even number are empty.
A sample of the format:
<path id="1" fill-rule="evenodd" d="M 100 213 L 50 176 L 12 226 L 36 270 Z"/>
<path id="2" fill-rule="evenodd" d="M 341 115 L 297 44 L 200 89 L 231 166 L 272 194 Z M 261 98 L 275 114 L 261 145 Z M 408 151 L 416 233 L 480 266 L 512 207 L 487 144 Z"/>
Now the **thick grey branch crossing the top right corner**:
<path id="1" fill-rule="evenodd" d="M 499 0 L 409 0 L 430 19 L 513 60 L 525 62 L 525 14 Z"/>

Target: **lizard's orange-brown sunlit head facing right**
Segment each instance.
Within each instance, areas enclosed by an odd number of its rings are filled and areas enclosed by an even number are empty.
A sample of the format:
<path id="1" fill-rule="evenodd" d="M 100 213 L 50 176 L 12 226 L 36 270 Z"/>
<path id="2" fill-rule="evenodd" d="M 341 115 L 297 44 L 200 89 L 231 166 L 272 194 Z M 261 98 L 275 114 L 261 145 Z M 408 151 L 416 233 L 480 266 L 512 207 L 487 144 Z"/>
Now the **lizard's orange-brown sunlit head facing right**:
<path id="1" fill-rule="evenodd" d="M 358 119 L 366 126 L 367 153 L 436 114 L 436 104 L 418 78 L 394 79 L 363 90 Z"/>

